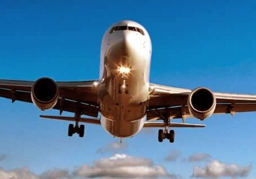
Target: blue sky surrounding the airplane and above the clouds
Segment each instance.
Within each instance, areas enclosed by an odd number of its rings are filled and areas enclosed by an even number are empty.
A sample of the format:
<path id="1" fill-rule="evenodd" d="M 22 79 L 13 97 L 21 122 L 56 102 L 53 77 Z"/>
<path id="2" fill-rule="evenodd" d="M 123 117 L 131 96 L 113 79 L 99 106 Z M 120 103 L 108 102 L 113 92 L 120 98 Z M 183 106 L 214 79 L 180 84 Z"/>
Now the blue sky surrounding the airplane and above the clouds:
<path id="1" fill-rule="evenodd" d="M 141 23 L 152 40 L 151 82 L 213 91 L 256 92 L 255 1 L 0 1 L 0 78 L 56 81 L 99 78 L 100 43 L 120 20 Z M 176 129 L 174 144 L 158 143 L 157 130 L 124 140 L 120 150 L 100 126 L 86 125 L 85 138 L 68 138 L 64 121 L 39 119 L 29 103 L 0 99 L 0 167 L 27 167 L 37 175 L 72 171 L 114 153 L 151 159 L 167 172 L 189 178 L 208 162 L 185 158 L 206 153 L 227 164 L 252 166 L 256 177 L 256 113 L 212 116 L 205 129 Z M 63 113 L 63 115 L 71 115 Z M 105 152 L 99 152 L 103 149 Z M 98 152 L 97 152 L 98 151 Z M 176 161 L 165 161 L 179 151 Z M 0 172 L 1 173 L 1 172 Z"/>

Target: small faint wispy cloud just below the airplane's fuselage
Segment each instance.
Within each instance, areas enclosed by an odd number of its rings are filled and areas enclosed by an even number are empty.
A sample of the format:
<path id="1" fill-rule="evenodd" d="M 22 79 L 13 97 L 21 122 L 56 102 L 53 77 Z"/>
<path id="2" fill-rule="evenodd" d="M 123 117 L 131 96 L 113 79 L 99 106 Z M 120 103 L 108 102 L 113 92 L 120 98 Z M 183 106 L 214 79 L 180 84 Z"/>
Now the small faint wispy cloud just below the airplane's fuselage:
<path id="1" fill-rule="evenodd" d="M 128 143 L 113 142 L 97 150 L 97 153 L 117 153 L 128 148 Z"/>

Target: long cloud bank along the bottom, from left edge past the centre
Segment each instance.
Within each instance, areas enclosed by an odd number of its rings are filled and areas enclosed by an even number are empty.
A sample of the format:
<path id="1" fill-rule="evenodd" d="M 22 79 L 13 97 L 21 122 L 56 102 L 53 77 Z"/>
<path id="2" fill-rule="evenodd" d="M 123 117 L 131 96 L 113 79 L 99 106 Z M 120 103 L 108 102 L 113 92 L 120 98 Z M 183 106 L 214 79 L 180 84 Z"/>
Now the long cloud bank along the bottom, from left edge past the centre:
<path id="1" fill-rule="evenodd" d="M 35 175 L 27 168 L 6 171 L 0 168 L 1 179 L 139 179 L 139 178 L 179 178 L 170 174 L 162 166 L 155 165 L 150 159 L 114 154 L 101 158 L 92 165 L 83 164 L 74 171 L 52 169 Z"/>

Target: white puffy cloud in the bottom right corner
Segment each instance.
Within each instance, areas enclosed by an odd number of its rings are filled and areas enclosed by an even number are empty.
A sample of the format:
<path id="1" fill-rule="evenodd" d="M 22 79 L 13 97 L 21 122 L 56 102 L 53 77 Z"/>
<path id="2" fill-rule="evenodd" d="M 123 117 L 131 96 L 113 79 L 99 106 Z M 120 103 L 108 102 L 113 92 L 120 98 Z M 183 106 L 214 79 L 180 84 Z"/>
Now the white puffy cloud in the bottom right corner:
<path id="1" fill-rule="evenodd" d="M 218 178 L 218 177 L 246 177 L 252 166 L 241 167 L 237 164 L 226 164 L 217 160 L 207 164 L 206 167 L 195 167 L 192 177 Z"/>

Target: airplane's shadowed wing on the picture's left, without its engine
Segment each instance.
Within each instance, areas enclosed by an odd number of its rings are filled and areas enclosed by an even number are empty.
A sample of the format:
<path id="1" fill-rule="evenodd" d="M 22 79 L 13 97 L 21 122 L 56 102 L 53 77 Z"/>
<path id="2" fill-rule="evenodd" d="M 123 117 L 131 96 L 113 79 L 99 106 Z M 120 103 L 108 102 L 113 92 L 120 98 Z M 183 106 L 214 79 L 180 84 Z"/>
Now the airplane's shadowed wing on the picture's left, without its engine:
<path id="1" fill-rule="evenodd" d="M 97 117 L 99 107 L 94 83 L 98 81 L 56 82 L 59 87 L 59 98 L 53 109 L 73 112 L 75 114 Z M 15 81 L 0 79 L 0 97 L 9 98 L 12 102 L 31 100 L 31 87 L 34 81 Z"/>

